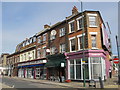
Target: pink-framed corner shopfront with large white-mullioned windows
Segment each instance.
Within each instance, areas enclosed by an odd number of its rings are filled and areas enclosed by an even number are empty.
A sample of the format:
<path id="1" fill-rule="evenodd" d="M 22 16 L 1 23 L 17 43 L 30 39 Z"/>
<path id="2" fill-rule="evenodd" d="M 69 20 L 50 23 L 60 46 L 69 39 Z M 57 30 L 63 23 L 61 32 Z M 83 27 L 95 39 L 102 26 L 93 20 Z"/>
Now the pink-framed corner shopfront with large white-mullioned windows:
<path id="1" fill-rule="evenodd" d="M 66 54 L 67 79 L 83 80 L 85 75 L 86 80 L 94 79 L 97 81 L 99 77 L 101 77 L 102 80 L 108 77 L 107 71 L 109 69 L 109 63 L 108 61 L 106 63 L 104 51 L 85 51 L 84 59 L 82 54 L 82 52 Z"/>

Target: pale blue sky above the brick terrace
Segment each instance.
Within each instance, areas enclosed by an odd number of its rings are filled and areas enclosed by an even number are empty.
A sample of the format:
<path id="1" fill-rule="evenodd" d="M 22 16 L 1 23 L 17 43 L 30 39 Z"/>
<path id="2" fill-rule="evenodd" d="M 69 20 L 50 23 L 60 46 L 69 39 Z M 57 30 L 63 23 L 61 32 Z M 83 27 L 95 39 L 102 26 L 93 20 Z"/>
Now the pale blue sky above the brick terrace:
<path id="1" fill-rule="evenodd" d="M 113 54 L 117 54 L 115 44 L 115 35 L 118 34 L 117 4 L 117 2 L 83 2 L 83 10 L 100 11 L 104 22 L 109 22 Z M 80 2 L 2 2 L 0 53 L 14 53 L 17 44 L 43 30 L 45 24 L 53 25 L 70 16 L 73 6 L 80 11 Z"/>

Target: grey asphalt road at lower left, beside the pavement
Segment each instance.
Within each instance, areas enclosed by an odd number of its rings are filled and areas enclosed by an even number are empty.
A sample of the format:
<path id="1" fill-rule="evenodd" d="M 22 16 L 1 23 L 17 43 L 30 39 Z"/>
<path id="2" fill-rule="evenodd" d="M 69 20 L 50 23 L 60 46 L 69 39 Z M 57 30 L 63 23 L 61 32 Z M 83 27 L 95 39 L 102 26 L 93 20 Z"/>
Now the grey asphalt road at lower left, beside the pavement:
<path id="1" fill-rule="evenodd" d="M 58 85 L 43 84 L 14 78 L 2 78 L 2 83 L 14 88 L 65 88 Z"/>

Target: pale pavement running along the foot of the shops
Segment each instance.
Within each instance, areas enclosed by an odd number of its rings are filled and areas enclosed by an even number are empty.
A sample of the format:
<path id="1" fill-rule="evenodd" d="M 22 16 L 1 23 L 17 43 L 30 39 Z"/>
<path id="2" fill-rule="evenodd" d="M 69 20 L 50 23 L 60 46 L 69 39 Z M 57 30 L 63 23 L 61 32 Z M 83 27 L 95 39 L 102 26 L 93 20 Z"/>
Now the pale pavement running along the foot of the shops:
<path id="1" fill-rule="evenodd" d="M 86 83 L 86 87 L 83 87 L 83 82 L 70 82 L 70 83 L 60 83 L 58 81 L 49 81 L 49 80 L 37 80 L 37 79 L 28 79 L 28 78 L 20 78 L 20 77 L 7 77 L 6 78 L 13 78 L 16 80 L 23 80 L 23 81 L 29 81 L 29 82 L 36 82 L 40 84 L 46 84 L 46 85 L 58 85 L 61 87 L 66 87 L 66 88 L 89 88 L 89 83 Z M 3 84 L 3 87 L 8 87 Z M 10 88 L 10 87 L 8 87 Z M 96 88 L 100 88 L 99 82 L 96 83 Z M 104 82 L 104 88 L 118 88 L 117 85 L 117 77 L 114 76 L 113 78 L 107 79 L 106 82 Z"/>

